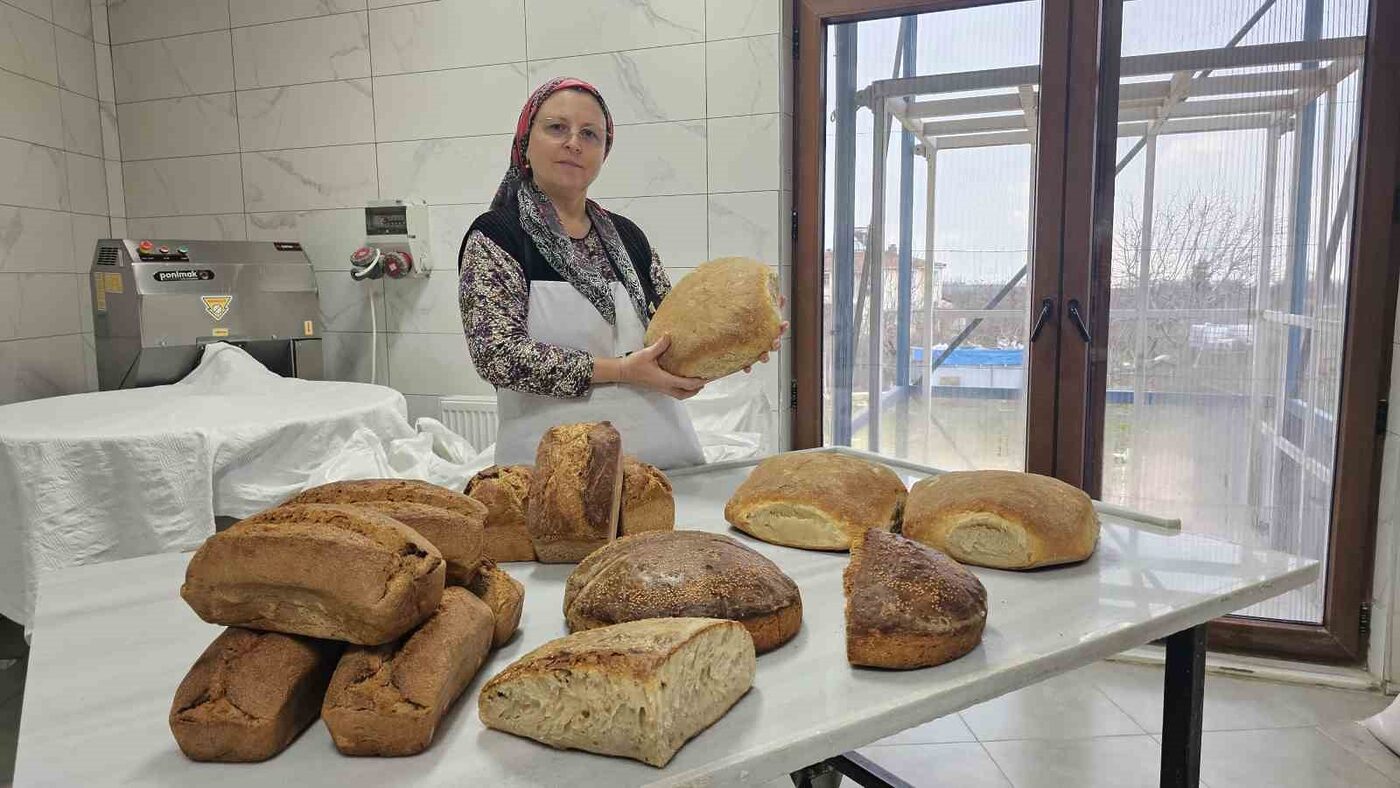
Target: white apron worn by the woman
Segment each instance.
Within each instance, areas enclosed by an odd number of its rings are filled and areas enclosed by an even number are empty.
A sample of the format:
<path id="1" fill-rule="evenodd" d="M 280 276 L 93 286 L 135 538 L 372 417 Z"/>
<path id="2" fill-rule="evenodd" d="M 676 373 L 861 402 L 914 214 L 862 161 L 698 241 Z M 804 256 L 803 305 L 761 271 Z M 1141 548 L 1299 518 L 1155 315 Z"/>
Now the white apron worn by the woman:
<path id="1" fill-rule="evenodd" d="M 612 283 L 617 325 L 567 281 L 532 281 L 526 328 L 536 342 L 577 347 L 608 358 L 644 347 L 645 329 L 637 319 L 627 288 Z M 595 385 L 581 397 L 540 396 L 496 389 L 500 427 L 497 465 L 533 465 L 535 448 L 556 424 L 612 421 L 622 434 L 622 451 L 661 469 L 704 463 L 700 439 L 680 400 L 626 384 Z"/>

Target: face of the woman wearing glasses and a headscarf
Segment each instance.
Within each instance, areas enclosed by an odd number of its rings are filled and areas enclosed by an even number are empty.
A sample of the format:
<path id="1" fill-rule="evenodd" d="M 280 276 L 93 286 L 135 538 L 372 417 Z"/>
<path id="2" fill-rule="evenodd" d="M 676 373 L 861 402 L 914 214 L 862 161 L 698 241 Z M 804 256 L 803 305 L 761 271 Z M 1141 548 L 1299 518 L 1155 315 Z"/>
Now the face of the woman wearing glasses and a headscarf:
<path id="1" fill-rule="evenodd" d="M 603 167 L 608 122 L 594 97 L 563 90 L 545 99 L 531 126 L 525 158 L 546 193 L 587 193 Z"/>

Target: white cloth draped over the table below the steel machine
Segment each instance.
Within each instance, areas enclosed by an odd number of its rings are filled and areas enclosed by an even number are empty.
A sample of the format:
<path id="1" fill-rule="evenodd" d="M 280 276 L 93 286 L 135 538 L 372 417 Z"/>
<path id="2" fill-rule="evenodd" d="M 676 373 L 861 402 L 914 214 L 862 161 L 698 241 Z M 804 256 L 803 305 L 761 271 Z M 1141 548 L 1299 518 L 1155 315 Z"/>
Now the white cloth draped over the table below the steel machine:
<path id="1" fill-rule="evenodd" d="M 281 378 L 227 344 L 174 385 L 0 407 L 0 614 L 31 624 L 42 571 L 192 550 L 357 430 L 412 438 L 406 413 L 391 388 Z"/>

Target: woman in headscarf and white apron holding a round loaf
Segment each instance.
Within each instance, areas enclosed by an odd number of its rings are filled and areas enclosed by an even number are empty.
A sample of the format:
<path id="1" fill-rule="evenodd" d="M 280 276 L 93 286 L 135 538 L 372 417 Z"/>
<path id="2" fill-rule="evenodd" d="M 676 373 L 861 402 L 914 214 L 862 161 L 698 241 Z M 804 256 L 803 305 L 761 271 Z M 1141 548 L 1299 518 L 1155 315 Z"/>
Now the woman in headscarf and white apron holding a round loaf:
<path id="1" fill-rule="evenodd" d="M 643 347 L 671 281 L 645 234 L 588 199 L 612 141 L 595 87 L 540 85 L 521 109 L 491 210 L 462 239 L 462 326 L 496 386 L 498 465 L 535 462 L 556 424 L 602 420 L 627 453 L 658 467 L 704 462 L 680 404 L 704 381 L 657 364 L 669 337 Z"/>

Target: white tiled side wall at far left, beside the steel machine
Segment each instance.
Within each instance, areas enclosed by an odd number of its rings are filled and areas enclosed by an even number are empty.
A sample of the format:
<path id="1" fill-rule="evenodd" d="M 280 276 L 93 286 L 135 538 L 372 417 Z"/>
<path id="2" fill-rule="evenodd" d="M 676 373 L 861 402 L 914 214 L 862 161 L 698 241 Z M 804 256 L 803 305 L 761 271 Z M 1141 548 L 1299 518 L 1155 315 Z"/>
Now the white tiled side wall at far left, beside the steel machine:
<path id="1" fill-rule="evenodd" d="M 120 169 L 105 11 L 0 0 L 0 404 L 95 388 L 84 295 Z"/>

